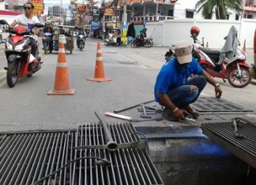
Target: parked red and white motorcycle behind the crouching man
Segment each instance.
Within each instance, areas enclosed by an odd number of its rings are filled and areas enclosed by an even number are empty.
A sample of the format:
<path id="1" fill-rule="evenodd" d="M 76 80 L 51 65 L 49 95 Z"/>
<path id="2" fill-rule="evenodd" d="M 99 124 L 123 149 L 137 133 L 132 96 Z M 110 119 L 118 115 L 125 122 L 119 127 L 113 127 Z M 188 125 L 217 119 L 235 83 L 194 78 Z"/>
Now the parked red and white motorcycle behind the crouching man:
<path id="1" fill-rule="evenodd" d="M 194 39 L 192 54 L 198 59 L 199 64 L 209 75 L 224 80 L 228 79 L 228 83 L 232 87 L 246 87 L 251 80 L 249 68 L 247 64 L 247 54 L 236 46 L 235 54 L 232 57 L 220 57 L 220 50 L 209 50 L 198 43 L 199 28 L 193 26 L 190 30 L 191 37 Z M 236 35 L 235 35 L 236 36 Z M 228 36 L 227 36 L 228 37 Z M 227 42 L 227 39 L 226 39 Z"/>

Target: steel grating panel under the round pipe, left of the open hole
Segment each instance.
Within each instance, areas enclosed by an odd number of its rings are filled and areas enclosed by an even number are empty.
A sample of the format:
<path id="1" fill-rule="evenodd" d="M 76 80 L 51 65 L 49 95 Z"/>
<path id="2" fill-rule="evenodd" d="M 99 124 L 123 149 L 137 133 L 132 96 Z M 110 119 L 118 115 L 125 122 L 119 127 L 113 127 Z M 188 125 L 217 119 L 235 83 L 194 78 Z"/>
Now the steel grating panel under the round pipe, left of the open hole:
<path id="1" fill-rule="evenodd" d="M 140 141 L 130 123 L 107 124 L 113 140 L 119 144 Z M 164 184 L 145 150 L 126 148 L 109 151 L 97 149 L 107 146 L 104 129 L 100 124 L 81 124 L 77 129 L 76 146 L 95 146 L 95 149 L 76 150 L 77 157 L 96 156 L 107 159 L 111 165 L 98 165 L 96 159 L 80 160 L 77 164 L 77 184 Z M 85 175 L 85 176 L 84 176 Z"/>

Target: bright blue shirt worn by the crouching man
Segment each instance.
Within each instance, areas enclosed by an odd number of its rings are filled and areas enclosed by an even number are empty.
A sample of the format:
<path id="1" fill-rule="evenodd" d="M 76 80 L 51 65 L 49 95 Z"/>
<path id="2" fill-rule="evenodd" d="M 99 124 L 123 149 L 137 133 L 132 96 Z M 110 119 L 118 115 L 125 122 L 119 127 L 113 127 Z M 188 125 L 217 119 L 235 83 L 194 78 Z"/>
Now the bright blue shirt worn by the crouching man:
<path id="1" fill-rule="evenodd" d="M 202 71 L 201 65 L 194 58 L 192 58 L 192 61 L 185 68 L 179 65 L 177 58 L 168 61 L 163 65 L 156 77 L 154 89 L 156 102 L 159 102 L 156 91 L 166 94 L 169 89 L 185 85 L 186 80 L 191 74 L 200 75 Z"/>

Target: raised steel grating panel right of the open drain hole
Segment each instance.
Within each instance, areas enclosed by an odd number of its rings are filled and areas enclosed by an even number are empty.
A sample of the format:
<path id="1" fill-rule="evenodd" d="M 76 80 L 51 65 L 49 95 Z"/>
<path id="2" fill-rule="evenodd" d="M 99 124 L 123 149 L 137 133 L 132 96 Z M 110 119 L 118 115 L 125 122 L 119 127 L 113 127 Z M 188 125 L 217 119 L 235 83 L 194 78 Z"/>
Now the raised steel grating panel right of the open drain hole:
<path id="1" fill-rule="evenodd" d="M 236 157 L 256 168 L 256 128 L 247 122 L 240 122 L 239 135 L 245 138 L 235 137 L 233 121 L 206 123 L 201 125 L 202 132 L 209 139 L 218 143 Z"/>

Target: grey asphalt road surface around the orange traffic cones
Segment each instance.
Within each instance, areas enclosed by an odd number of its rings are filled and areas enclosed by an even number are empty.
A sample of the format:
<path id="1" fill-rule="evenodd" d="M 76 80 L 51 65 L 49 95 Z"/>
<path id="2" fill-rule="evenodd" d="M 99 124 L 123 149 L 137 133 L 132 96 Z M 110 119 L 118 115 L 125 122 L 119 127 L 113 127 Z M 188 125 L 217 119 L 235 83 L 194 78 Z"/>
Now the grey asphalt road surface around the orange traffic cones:
<path id="1" fill-rule="evenodd" d="M 66 54 L 70 87 L 73 96 L 49 96 L 54 87 L 58 54 L 41 54 L 43 68 L 32 78 L 23 78 L 17 85 L 6 85 L 6 57 L 0 45 L 0 132 L 76 128 L 77 123 L 97 121 L 94 112 L 113 112 L 153 99 L 156 75 L 164 64 L 167 47 L 133 49 L 102 45 L 104 72 L 110 82 L 96 83 L 86 79 L 94 76 L 96 39 L 87 39 L 85 50 L 75 48 Z M 42 53 L 42 52 L 41 52 Z M 247 50 L 248 62 L 253 63 L 252 50 Z M 236 89 L 215 79 L 223 90 L 223 98 L 256 111 L 254 83 Z M 214 96 L 214 88 L 207 85 L 202 92 Z M 129 115 L 134 116 L 134 115 Z M 250 116 L 250 115 L 249 115 Z M 252 115 L 254 117 L 254 115 Z M 105 117 L 106 120 L 111 120 Z"/>

